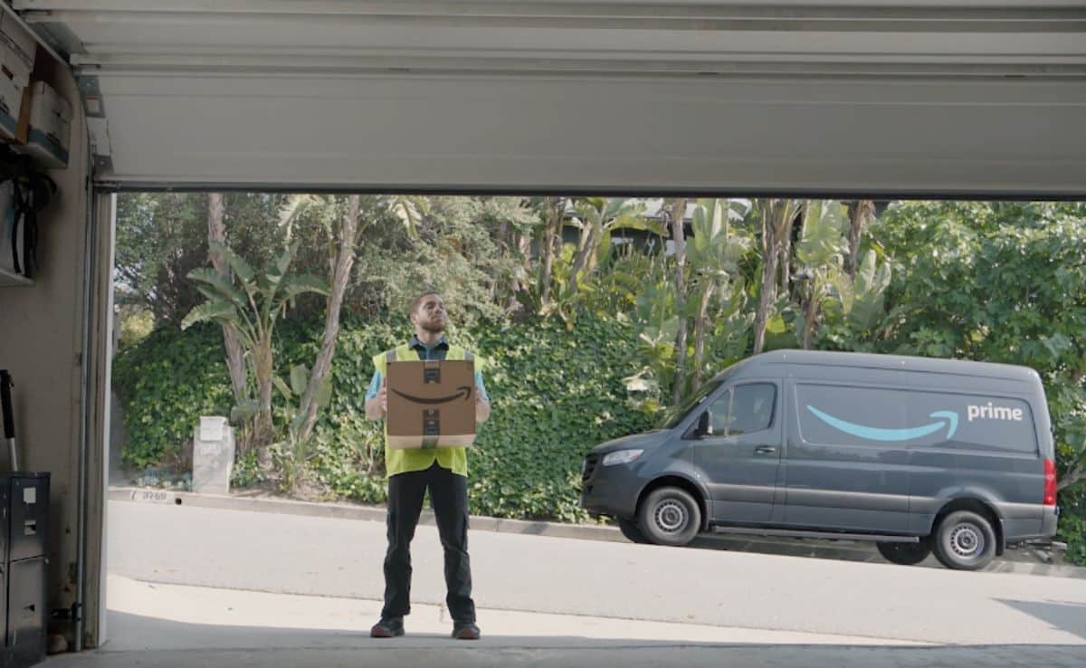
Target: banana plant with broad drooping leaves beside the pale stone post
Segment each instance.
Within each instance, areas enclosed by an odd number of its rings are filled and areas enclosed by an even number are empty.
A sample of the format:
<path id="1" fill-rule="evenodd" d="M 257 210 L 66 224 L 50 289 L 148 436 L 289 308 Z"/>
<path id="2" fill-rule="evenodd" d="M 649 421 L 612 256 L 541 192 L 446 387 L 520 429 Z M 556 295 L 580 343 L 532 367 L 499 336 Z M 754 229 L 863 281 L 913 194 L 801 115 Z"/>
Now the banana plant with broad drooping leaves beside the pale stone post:
<path id="1" fill-rule="evenodd" d="M 299 295 L 316 293 L 327 295 L 326 280 L 312 275 L 289 276 L 290 264 L 298 252 L 298 244 L 287 248 L 279 259 L 262 272 L 256 272 L 229 247 L 213 243 L 212 251 L 226 259 L 233 276 L 227 278 L 212 268 L 189 272 L 189 279 L 197 281 L 197 289 L 206 301 L 197 305 L 185 319 L 181 329 L 201 322 L 231 325 L 245 350 L 250 370 L 256 381 L 256 415 L 253 443 L 262 465 L 270 464 L 268 445 L 274 428 L 272 423 L 272 388 L 274 350 L 273 335 L 278 320 L 286 315 Z"/>

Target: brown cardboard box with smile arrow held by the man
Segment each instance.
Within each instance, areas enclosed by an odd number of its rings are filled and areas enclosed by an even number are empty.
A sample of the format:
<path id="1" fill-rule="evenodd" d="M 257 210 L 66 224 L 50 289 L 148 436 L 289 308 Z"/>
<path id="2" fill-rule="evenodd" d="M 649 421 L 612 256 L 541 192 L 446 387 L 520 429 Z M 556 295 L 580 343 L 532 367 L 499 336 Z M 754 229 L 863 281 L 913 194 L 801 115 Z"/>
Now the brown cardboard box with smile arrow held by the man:
<path id="1" fill-rule="evenodd" d="M 475 442 L 475 362 L 390 362 L 389 448 L 466 448 Z"/>

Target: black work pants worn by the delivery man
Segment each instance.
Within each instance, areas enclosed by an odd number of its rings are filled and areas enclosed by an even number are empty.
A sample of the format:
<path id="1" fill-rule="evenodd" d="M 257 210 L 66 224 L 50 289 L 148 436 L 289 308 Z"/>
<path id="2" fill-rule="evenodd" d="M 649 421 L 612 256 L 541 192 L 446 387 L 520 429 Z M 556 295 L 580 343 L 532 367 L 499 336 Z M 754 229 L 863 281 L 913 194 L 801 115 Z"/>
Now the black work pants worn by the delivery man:
<path id="1" fill-rule="evenodd" d="M 384 555 L 384 609 L 381 617 L 411 613 L 411 541 L 422 512 L 422 496 L 430 490 L 430 504 L 438 520 L 445 551 L 445 603 L 453 621 L 473 622 L 471 564 L 468 559 L 468 479 L 437 462 L 420 471 L 389 478 L 389 549 Z"/>

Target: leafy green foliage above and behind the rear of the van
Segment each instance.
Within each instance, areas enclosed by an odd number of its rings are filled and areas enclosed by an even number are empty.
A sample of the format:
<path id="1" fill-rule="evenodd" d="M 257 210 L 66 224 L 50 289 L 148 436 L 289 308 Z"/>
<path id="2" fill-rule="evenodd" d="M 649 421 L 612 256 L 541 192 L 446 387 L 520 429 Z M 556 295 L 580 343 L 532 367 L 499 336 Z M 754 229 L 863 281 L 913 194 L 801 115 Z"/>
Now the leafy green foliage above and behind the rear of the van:
<path id="1" fill-rule="evenodd" d="M 872 234 L 899 267 L 880 350 L 1036 369 L 1060 486 L 1086 478 L 1086 207 L 906 203 Z"/>

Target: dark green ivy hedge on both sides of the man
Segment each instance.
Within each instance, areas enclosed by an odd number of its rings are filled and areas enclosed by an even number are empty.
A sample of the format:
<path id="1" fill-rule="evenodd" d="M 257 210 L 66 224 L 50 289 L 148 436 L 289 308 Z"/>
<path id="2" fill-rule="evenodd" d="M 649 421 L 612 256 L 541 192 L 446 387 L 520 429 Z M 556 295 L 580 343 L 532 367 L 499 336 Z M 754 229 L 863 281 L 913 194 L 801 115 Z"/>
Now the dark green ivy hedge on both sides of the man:
<path id="1" fill-rule="evenodd" d="M 381 428 L 365 419 L 370 357 L 409 332 L 402 320 L 346 318 L 332 365 L 333 396 L 318 421 L 312 477 L 329 497 L 384 500 Z M 318 326 L 288 324 L 277 366 L 313 363 Z M 622 378 L 640 366 L 632 330 L 617 322 L 531 320 L 452 335 L 488 361 L 490 421 L 468 455 L 471 511 L 495 517 L 584 519 L 577 506 L 580 467 L 592 446 L 642 431 L 652 419 L 628 404 Z M 125 350 L 114 380 L 125 408 L 130 465 L 176 459 L 201 414 L 227 415 L 231 403 L 217 327 L 160 330 Z"/>

